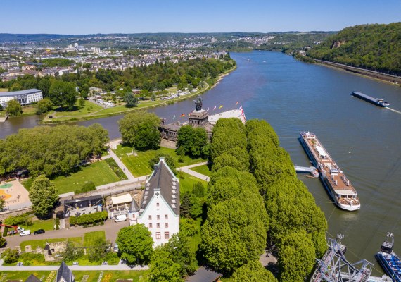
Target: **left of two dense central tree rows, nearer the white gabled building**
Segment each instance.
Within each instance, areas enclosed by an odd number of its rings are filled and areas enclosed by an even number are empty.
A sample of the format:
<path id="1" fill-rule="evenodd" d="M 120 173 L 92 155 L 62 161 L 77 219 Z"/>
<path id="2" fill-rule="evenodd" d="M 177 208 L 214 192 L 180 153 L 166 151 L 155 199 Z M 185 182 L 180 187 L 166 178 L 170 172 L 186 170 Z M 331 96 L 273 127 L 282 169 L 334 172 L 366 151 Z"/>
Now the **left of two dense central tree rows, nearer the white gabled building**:
<path id="1" fill-rule="evenodd" d="M 227 155 L 241 157 L 219 161 Z M 269 226 L 256 180 L 246 169 L 246 133 L 238 118 L 217 122 L 211 157 L 213 173 L 208 184 L 208 214 L 202 226 L 200 250 L 210 266 L 231 275 L 262 254 Z"/>

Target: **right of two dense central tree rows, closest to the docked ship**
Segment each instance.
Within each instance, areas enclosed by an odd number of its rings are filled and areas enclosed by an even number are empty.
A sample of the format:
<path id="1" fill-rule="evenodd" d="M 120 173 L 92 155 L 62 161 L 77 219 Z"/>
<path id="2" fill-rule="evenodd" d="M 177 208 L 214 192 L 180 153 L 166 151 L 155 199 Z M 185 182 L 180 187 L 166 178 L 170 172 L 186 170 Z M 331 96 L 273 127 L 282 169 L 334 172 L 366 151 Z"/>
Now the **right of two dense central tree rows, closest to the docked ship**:
<path id="1" fill-rule="evenodd" d="M 269 240 L 278 257 L 279 281 L 304 281 L 326 250 L 326 219 L 295 175 L 288 153 L 266 121 L 246 124 L 250 170 L 265 197 Z"/>

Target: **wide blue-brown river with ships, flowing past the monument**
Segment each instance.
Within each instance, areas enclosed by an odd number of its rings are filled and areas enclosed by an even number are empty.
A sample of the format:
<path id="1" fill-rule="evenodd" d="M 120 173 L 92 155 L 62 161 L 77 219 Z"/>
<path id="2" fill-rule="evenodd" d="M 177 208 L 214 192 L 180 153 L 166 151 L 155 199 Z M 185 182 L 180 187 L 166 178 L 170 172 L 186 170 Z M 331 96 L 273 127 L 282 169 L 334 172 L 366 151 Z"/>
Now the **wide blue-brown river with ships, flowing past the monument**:
<path id="1" fill-rule="evenodd" d="M 231 54 L 236 71 L 203 94 L 203 108 L 223 105 L 220 111 L 243 106 L 246 117 L 268 121 L 279 135 L 281 146 L 294 164 L 310 161 L 298 142 L 300 131 L 317 134 L 331 157 L 355 186 L 362 207 L 343 212 L 329 200 L 320 180 L 299 175 L 329 222 L 329 235 L 343 233 L 351 262 L 368 259 L 374 274 L 382 273 L 374 259 L 386 233 L 395 235 L 395 252 L 401 254 L 401 87 L 362 78 L 336 69 L 296 61 L 291 56 L 269 51 Z M 358 90 L 383 97 L 390 109 L 381 109 L 351 97 Z M 173 116 L 189 114 L 192 99 L 152 111 L 171 122 Z M 101 123 L 110 137 L 119 136 L 121 116 L 80 122 Z M 177 118 L 176 118 L 177 119 Z M 36 116 L 11 118 L 0 124 L 0 137 L 18 128 L 37 124 Z"/>

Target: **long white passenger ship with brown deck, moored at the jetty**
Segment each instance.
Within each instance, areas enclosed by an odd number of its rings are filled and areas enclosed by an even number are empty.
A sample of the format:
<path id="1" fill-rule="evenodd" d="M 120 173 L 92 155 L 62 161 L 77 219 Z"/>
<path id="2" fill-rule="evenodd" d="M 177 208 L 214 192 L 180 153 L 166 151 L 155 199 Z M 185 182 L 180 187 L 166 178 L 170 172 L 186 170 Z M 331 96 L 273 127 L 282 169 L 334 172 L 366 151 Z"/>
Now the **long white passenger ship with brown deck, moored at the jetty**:
<path id="1" fill-rule="evenodd" d="M 318 169 L 324 188 L 337 206 L 347 211 L 360 209 L 361 204 L 357 191 L 343 171 L 331 159 L 316 135 L 310 132 L 302 132 L 299 139 L 313 165 Z"/>

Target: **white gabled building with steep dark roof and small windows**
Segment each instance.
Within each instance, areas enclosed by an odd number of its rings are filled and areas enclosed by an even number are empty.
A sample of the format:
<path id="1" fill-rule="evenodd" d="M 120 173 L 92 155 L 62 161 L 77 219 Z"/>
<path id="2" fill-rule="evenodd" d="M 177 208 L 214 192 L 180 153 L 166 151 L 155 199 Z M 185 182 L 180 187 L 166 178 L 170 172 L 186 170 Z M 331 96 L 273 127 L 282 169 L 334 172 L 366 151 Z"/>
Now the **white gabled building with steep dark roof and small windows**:
<path id="1" fill-rule="evenodd" d="M 129 223 L 144 224 L 153 238 L 154 246 L 167 241 L 179 231 L 179 180 L 160 158 L 146 183 L 141 204 L 133 200 Z"/>

